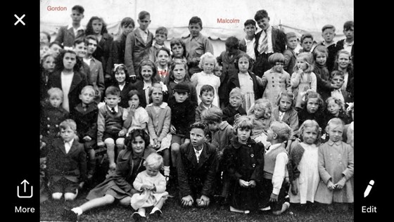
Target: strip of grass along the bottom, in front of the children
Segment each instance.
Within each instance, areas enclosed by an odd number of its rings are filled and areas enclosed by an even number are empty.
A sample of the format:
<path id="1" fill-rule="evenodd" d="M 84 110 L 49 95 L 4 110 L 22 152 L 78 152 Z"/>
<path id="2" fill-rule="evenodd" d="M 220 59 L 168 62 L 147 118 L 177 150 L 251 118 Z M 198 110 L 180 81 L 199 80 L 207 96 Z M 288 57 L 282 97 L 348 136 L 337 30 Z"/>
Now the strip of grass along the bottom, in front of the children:
<path id="1" fill-rule="evenodd" d="M 170 190 L 170 194 L 175 194 Z M 82 191 L 74 202 L 46 200 L 40 207 L 41 221 L 61 221 L 61 211 L 63 207 L 71 209 L 86 200 L 87 190 Z M 147 209 L 146 215 L 151 209 Z M 312 204 L 308 207 L 300 207 L 291 204 L 290 208 L 280 216 L 271 213 L 258 214 L 250 211 L 250 214 L 239 214 L 229 211 L 229 207 L 220 206 L 212 203 L 207 209 L 182 208 L 179 205 L 178 197 L 169 198 L 162 209 L 161 218 L 147 218 L 146 221 L 300 221 L 300 222 L 319 222 L 319 221 L 354 221 L 353 209 L 348 211 L 335 210 L 329 212 L 322 204 Z M 80 216 L 80 221 L 133 221 L 132 207 L 122 207 L 112 204 L 108 207 L 92 209 Z"/>

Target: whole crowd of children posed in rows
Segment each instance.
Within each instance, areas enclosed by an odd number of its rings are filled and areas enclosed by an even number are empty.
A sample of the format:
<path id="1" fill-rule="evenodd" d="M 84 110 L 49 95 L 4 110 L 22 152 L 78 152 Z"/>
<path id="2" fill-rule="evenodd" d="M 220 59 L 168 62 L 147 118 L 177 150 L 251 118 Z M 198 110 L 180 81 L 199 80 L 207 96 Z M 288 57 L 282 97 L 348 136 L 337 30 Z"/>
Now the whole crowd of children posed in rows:
<path id="1" fill-rule="evenodd" d="M 343 41 L 324 25 L 324 41 L 303 34 L 296 52 L 295 33 L 260 10 L 245 38 L 229 37 L 215 58 L 197 16 L 170 48 L 165 27 L 149 32 L 146 11 L 135 29 L 124 18 L 115 40 L 98 16 L 84 30 L 82 6 L 71 18 L 54 44 L 40 38 L 42 187 L 53 200 L 75 200 L 86 182 L 101 181 L 63 217 L 115 200 L 136 221 L 147 207 L 160 216 L 169 188 L 184 207 L 220 200 L 242 214 L 354 201 L 352 21 Z"/>

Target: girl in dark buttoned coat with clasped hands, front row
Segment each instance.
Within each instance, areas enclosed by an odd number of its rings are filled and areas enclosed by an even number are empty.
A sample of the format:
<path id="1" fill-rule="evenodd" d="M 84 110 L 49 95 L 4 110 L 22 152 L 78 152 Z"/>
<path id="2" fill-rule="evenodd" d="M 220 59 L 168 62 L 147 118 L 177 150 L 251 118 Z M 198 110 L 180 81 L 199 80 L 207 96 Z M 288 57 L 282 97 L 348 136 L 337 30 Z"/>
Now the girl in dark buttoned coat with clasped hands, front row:
<path id="1" fill-rule="evenodd" d="M 236 137 L 224 149 L 223 159 L 229 175 L 230 211 L 249 214 L 262 207 L 261 172 L 264 166 L 264 145 L 250 138 L 253 123 L 249 117 L 236 120 Z"/>

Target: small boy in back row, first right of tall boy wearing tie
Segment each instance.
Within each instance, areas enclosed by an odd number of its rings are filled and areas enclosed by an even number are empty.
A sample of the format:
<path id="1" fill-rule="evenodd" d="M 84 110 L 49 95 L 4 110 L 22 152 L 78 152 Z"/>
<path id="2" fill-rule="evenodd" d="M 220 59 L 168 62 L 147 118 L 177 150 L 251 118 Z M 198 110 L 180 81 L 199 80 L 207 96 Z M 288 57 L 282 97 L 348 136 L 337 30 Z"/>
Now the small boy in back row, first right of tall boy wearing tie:
<path id="1" fill-rule="evenodd" d="M 295 48 L 298 46 L 297 36 L 295 32 L 286 33 L 286 50 L 284 51 L 284 70 L 290 74 L 293 73 L 293 68 L 297 62 L 297 53 Z"/>

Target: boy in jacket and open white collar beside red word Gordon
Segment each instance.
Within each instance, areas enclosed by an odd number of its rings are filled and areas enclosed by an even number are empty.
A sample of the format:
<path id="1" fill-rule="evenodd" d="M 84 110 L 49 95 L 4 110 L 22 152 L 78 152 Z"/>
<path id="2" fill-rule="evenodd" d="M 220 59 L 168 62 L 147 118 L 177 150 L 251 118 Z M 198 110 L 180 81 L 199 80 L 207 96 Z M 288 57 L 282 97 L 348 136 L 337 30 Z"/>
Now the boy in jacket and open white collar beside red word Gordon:
<path id="1" fill-rule="evenodd" d="M 85 35 L 84 28 L 81 25 L 81 20 L 84 18 L 84 7 L 73 6 L 71 8 L 71 18 L 72 23 L 61 27 L 56 35 L 55 41 L 63 44 L 63 47 L 72 47 L 75 39 L 82 38 Z"/>

